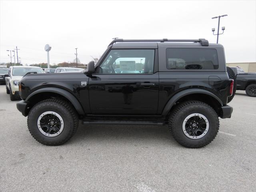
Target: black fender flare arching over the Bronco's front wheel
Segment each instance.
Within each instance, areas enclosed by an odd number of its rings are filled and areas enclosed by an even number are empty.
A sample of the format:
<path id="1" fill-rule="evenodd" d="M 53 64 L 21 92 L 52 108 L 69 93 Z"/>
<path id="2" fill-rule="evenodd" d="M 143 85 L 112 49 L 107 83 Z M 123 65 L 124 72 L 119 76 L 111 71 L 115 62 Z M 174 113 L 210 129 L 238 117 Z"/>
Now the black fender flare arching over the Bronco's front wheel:
<path id="1" fill-rule="evenodd" d="M 73 96 L 70 92 L 64 90 L 64 89 L 61 89 L 61 88 L 56 88 L 56 87 L 45 87 L 45 88 L 40 88 L 34 92 L 32 92 L 32 94 L 30 94 L 25 102 L 29 102 L 29 99 L 38 94 L 38 93 L 42 93 L 42 92 L 53 92 L 53 93 L 57 93 L 57 94 L 60 94 L 62 96 L 64 96 L 65 98 L 67 98 L 74 106 L 74 108 L 76 109 L 76 111 L 78 112 L 78 114 L 80 115 L 84 115 L 84 110 L 80 104 L 80 102 L 77 100 L 77 98 L 75 96 Z"/>

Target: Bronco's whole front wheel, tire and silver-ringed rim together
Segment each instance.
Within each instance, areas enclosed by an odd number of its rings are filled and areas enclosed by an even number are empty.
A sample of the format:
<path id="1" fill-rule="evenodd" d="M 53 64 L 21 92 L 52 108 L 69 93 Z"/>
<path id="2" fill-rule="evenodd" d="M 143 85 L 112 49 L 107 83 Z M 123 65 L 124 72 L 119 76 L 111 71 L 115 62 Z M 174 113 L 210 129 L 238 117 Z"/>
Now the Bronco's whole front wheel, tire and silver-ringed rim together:
<path id="1" fill-rule="evenodd" d="M 75 134 L 77 127 L 76 110 L 65 100 L 43 100 L 28 114 L 30 134 L 44 145 L 64 144 Z"/>

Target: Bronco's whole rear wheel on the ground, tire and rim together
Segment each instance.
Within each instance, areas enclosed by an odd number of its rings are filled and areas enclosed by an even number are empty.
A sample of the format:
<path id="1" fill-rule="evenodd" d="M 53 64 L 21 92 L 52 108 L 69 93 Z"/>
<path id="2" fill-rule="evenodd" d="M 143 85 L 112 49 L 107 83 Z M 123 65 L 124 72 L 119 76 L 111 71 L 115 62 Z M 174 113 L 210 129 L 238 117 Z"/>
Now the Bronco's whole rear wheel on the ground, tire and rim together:
<path id="1" fill-rule="evenodd" d="M 168 125 L 174 139 L 188 148 L 208 145 L 220 126 L 215 110 L 196 100 L 178 104 L 170 114 Z"/>

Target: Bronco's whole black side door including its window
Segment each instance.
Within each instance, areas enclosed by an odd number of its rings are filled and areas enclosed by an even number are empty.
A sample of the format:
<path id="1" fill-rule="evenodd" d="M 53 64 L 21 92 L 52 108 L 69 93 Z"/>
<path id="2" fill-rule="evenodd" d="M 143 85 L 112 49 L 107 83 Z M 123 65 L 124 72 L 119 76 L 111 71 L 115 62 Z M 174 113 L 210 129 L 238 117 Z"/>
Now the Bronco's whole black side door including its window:
<path id="1" fill-rule="evenodd" d="M 154 49 L 110 50 L 89 78 L 92 114 L 155 115 L 159 78 Z"/>

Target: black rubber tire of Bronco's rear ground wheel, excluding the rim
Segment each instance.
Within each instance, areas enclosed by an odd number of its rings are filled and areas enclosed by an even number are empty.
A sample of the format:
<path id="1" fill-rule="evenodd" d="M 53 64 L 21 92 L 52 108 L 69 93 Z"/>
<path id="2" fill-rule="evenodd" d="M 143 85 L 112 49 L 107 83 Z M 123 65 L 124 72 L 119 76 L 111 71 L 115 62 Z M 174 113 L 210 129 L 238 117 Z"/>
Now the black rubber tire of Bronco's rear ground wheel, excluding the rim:
<path id="1" fill-rule="evenodd" d="M 194 113 L 204 115 L 209 122 L 208 132 L 198 139 L 186 136 L 182 130 L 185 118 Z M 219 130 L 219 118 L 215 110 L 208 104 L 196 100 L 182 102 L 174 107 L 169 116 L 168 126 L 174 139 L 182 146 L 188 148 L 201 148 L 208 145 L 216 137 Z"/>

